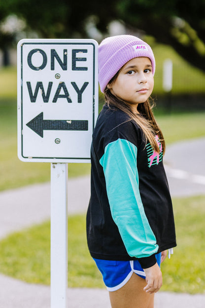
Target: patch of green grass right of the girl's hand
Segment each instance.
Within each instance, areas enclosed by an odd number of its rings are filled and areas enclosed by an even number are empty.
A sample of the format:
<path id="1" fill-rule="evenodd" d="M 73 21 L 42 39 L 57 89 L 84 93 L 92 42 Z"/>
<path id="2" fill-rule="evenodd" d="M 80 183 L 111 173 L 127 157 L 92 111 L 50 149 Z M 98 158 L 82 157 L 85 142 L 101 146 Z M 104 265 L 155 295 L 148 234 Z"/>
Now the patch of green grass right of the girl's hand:
<path id="1" fill-rule="evenodd" d="M 162 265 L 164 291 L 205 294 L 205 196 L 174 199 L 177 247 Z"/>

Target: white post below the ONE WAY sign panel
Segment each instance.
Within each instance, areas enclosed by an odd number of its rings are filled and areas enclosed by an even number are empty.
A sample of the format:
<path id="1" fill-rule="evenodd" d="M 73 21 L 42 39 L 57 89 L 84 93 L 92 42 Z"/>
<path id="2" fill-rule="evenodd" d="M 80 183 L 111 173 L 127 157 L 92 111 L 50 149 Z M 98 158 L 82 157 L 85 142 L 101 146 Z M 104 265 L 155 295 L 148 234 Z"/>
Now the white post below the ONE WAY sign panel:
<path id="1" fill-rule="evenodd" d="M 66 308 L 68 285 L 68 164 L 51 164 L 51 308 Z"/>

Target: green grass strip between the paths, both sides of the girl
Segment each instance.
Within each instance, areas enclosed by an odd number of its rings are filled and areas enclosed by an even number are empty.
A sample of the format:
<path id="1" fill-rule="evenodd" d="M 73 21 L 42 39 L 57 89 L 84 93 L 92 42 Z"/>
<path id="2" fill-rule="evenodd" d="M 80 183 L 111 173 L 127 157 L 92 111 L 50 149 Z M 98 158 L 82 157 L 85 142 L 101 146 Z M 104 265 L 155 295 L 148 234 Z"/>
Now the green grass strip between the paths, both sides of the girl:
<path id="1" fill-rule="evenodd" d="M 204 204 L 205 196 L 173 199 L 178 245 L 162 264 L 162 291 L 205 293 Z M 49 222 L 0 241 L 0 272 L 31 283 L 50 283 Z M 87 249 L 85 215 L 68 218 L 68 286 L 104 287 Z"/>

